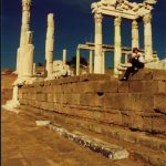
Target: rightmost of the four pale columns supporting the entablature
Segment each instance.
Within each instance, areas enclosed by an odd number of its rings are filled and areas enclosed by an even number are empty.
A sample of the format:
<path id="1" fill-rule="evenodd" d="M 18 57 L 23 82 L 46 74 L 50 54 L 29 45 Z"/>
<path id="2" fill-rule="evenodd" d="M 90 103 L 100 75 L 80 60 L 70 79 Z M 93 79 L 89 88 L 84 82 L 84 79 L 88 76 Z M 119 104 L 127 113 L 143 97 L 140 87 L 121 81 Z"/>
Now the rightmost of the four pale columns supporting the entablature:
<path id="1" fill-rule="evenodd" d="M 144 46 L 145 46 L 145 60 L 153 59 L 153 43 L 152 43 L 152 15 L 151 13 L 144 15 Z"/>

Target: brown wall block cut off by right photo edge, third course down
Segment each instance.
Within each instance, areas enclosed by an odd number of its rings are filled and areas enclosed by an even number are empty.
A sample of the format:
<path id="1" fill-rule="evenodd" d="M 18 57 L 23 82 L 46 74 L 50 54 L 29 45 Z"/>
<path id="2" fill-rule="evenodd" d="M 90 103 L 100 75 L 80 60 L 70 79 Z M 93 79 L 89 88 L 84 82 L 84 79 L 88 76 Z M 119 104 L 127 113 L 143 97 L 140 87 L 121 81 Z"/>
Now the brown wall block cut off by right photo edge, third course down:
<path id="1" fill-rule="evenodd" d="M 156 94 L 154 96 L 154 108 L 166 114 L 166 94 Z"/>

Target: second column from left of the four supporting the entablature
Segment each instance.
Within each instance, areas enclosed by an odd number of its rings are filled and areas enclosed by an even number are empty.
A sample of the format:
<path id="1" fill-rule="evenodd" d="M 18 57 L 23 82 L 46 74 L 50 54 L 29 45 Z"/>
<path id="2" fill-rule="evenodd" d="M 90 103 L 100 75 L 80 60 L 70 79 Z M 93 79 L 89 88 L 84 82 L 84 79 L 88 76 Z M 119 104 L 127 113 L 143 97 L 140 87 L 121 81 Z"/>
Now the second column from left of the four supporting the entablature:
<path id="1" fill-rule="evenodd" d="M 114 50 L 114 74 L 115 76 L 118 76 L 118 65 L 121 64 L 122 59 L 122 49 L 121 49 L 121 22 L 122 19 L 116 17 L 114 20 L 114 27 L 115 27 L 115 37 L 114 37 L 114 43 L 115 43 L 115 50 Z"/>

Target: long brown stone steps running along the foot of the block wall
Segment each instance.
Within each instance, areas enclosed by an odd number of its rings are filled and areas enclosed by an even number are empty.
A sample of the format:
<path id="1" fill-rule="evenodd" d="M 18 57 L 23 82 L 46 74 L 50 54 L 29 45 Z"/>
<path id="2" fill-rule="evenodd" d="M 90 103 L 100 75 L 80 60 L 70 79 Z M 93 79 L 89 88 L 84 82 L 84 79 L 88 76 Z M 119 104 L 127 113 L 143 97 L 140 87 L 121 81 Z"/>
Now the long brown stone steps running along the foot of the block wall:
<path id="1" fill-rule="evenodd" d="M 128 162 L 134 166 L 165 166 L 166 165 L 166 142 L 165 138 L 151 136 L 146 133 L 129 131 L 116 125 L 98 124 L 86 120 L 73 118 L 63 114 L 41 111 L 31 106 L 21 106 L 21 112 L 31 116 L 33 121 L 49 120 L 54 126 L 63 127 L 71 132 L 80 132 L 82 135 L 98 138 L 112 145 L 123 147 L 129 153 Z M 123 160 L 117 162 L 124 166 Z"/>

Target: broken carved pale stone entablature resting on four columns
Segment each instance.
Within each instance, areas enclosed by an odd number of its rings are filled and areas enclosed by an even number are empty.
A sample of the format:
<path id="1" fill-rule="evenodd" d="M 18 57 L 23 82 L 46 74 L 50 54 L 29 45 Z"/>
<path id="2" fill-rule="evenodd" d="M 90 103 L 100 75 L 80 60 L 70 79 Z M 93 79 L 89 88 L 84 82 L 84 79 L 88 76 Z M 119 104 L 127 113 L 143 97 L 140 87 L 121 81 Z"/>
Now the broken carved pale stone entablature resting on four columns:
<path id="1" fill-rule="evenodd" d="M 136 20 L 153 10 L 156 0 L 145 0 L 143 3 L 128 2 L 127 0 L 101 0 L 92 3 L 92 13 L 121 17 Z"/>

